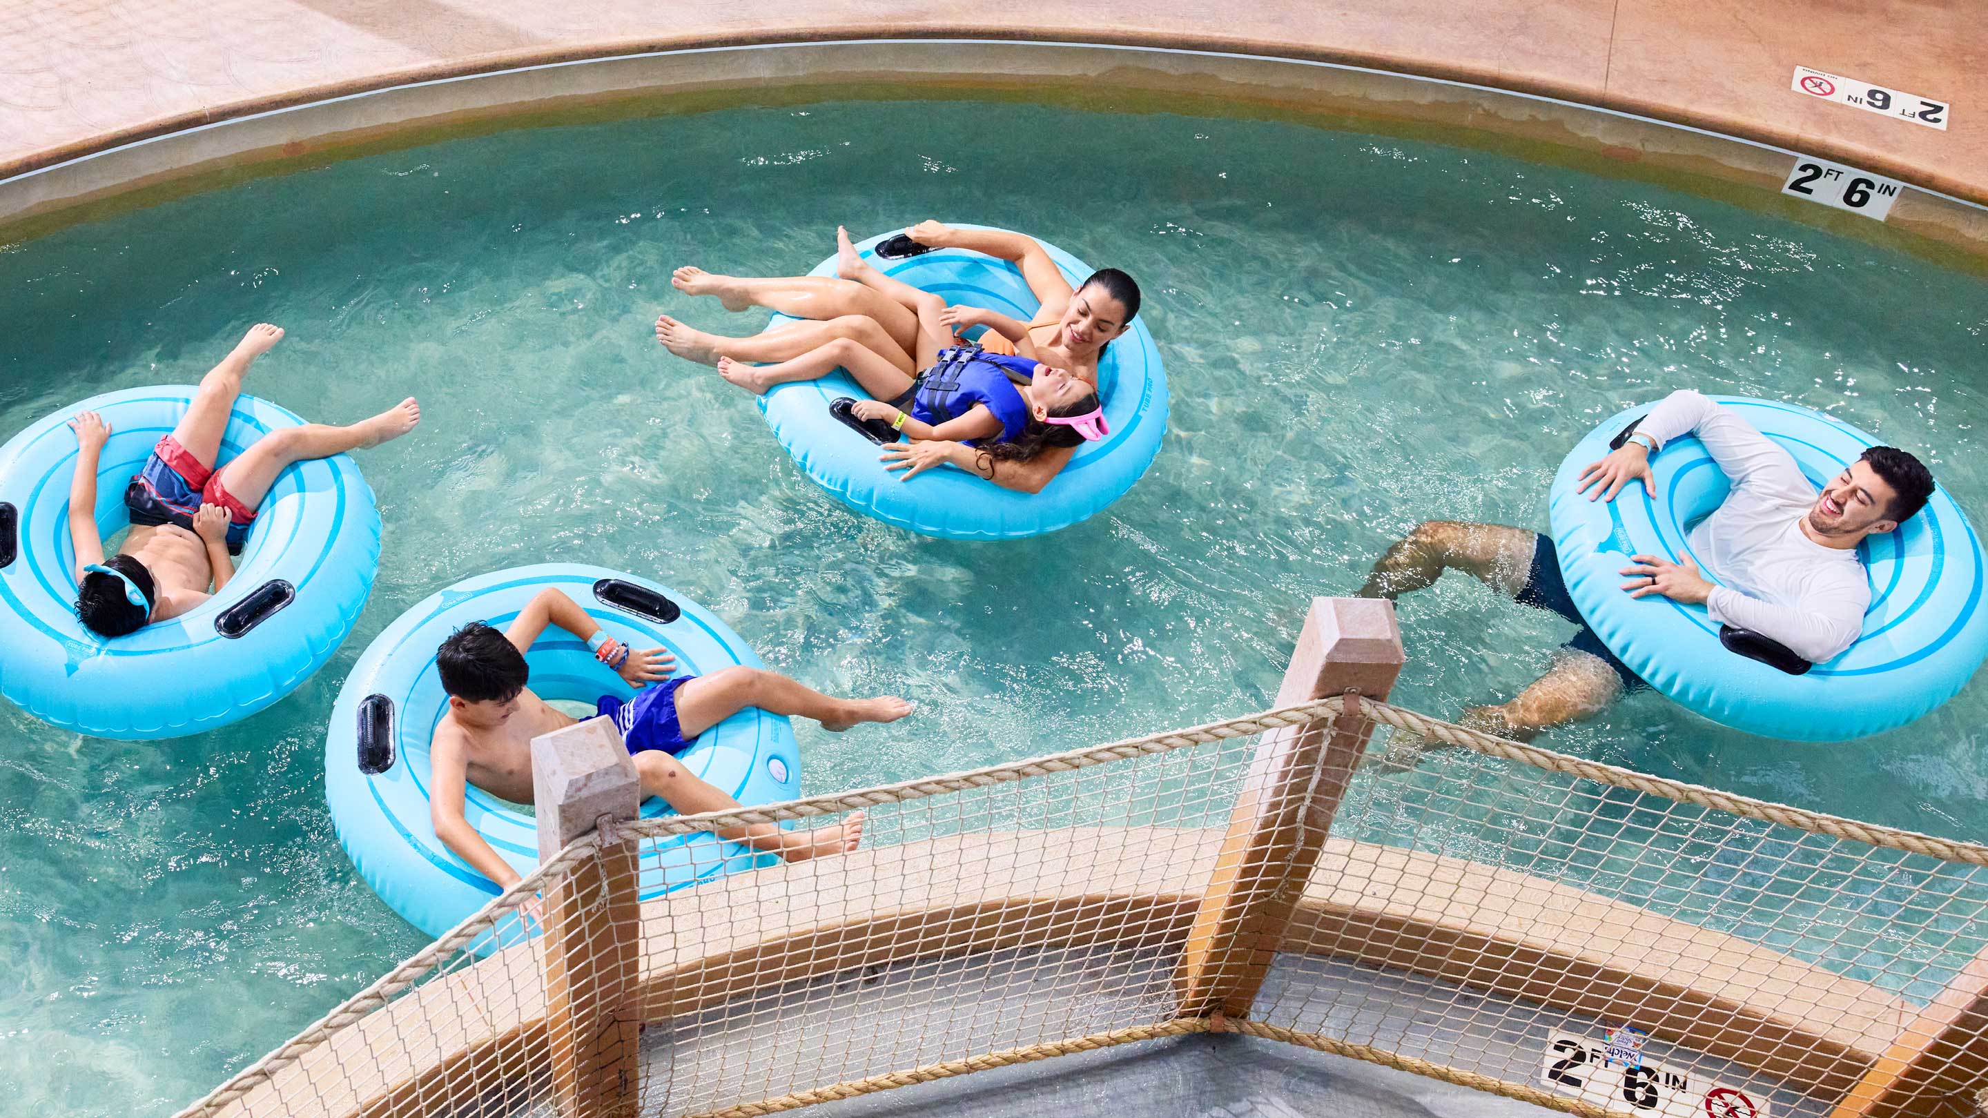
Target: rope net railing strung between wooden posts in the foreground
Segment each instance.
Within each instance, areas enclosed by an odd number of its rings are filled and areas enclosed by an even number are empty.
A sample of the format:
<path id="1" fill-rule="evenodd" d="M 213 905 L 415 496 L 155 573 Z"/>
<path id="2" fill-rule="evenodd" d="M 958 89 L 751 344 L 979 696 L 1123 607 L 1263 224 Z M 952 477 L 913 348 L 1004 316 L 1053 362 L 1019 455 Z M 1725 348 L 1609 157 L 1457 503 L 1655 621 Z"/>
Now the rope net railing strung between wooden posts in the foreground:
<path id="1" fill-rule="evenodd" d="M 765 824 L 813 855 L 644 879 Z M 1207 1030 L 1574 1114 L 1938 1114 L 1984 907 L 1982 845 L 1326 698 L 604 820 L 181 1118 L 757 1116 Z"/>

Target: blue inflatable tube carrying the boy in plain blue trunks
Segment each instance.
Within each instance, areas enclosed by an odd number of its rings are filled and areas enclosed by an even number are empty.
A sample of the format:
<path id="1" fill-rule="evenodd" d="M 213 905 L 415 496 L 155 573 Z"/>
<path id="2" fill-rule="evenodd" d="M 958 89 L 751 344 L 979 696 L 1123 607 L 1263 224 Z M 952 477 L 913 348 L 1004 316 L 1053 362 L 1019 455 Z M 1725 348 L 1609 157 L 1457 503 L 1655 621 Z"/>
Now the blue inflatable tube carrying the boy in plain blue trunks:
<path id="1" fill-rule="evenodd" d="M 374 893 L 408 923 L 439 937 L 499 893 L 435 838 L 427 816 L 427 746 L 449 698 L 435 674 L 435 649 L 469 621 L 503 629 L 545 587 L 580 603 L 616 641 L 668 649 L 676 674 L 706 674 L 732 664 L 761 666 L 759 656 L 724 621 L 674 591 L 600 567 L 547 563 L 465 579 L 421 601 L 366 649 L 332 708 L 324 736 L 324 800 L 338 841 Z M 680 611 L 680 613 L 678 613 Z M 579 639 L 549 631 L 531 647 L 531 690 L 549 702 L 634 694 L 602 668 Z M 785 718 L 747 708 L 706 730 L 680 760 L 742 804 L 793 800 L 801 790 L 799 750 Z M 533 818 L 471 786 L 465 818 L 521 875 L 539 865 Z M 642 816 L 666 816 L 646 800 Z M 642 847 L 642 897 L 702 879 L 769 865 L 771 855 L 720 841 L 712 834 L 660 839 Z M 515 931 L 515 929 L 513 929 Z M 505 937 L 505 931 L 499 929 Z"/>

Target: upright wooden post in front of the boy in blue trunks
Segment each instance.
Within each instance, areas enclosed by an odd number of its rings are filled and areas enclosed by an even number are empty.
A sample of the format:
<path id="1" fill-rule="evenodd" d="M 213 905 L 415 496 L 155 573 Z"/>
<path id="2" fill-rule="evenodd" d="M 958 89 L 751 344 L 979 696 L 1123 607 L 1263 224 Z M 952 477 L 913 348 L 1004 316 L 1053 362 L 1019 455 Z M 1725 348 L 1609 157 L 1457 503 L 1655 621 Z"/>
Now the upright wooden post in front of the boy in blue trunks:
<path id="1" fill-rule="evenodd" d="M 612 718 L 588 718 L 531 740 L 539 859 L 616 822 L 634 820 L 642 780 Z M 634 839 L 604 841 L 545 887 L 545 1025 L 561 1118 L 636 1110 L 640 1030 L 640 891 Z"/>

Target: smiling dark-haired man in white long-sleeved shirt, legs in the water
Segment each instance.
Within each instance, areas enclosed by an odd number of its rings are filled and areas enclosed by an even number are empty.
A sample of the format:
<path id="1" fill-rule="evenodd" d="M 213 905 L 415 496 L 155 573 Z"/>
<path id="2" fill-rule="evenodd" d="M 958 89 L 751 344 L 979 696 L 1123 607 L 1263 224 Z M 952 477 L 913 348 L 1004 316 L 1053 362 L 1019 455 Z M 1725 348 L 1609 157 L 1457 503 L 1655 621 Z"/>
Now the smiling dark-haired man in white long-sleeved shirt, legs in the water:
<path id="1" fill-rule="evenodd" d="M 1736 412 L 1698 392 L 1672 392 L 1608 458 L 1580 471 L 1588 499 L 1612 501 L 1640 481 L 1656 491 L 1650 456 L 1670 440 L 1698 436 L 1732 479 L 1726 501 L 1690 533 L 1692 551 L 1720 575 L 1714 587 L 1686 555 L 1632 555 L 1622 591 L 1704 603 L 1714 621 L 1777 641 L 1809 662 L 1825 662 L 1857 643 L 1871 583 L 1857 545 L 1883 535 L 1926 505 L 1932 473 L 1910 454 L 1873 446 L 1817 493 L 1793 456 Z M 1394 599 L 1419 591 L 1447 569 L 1580 627 L 1553 666 L 1501 706 L 1473 706 L 1463 722 L 1517 740 L 1588 718 L 1644 684 L 1602 645 L 1561 581 L 1553 539 L 1523 527 L 1427 521 L 1374 565 L 1360 597 Z"/>

